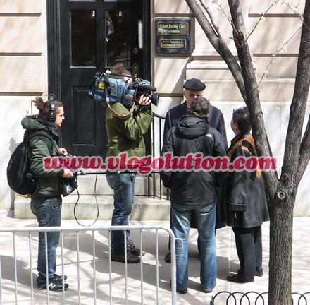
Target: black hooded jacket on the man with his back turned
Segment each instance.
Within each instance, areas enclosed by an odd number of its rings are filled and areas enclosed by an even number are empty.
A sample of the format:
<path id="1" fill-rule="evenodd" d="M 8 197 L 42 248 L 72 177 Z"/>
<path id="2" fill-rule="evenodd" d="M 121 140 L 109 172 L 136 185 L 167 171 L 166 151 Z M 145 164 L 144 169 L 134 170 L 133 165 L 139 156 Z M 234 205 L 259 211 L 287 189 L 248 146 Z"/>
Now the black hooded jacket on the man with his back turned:
<path id="1" fill-rule="evenodd" d="M 221 134 L 203 119 L 184 116 L 177 126 L 168 131 L 162 155 L 186 156 L 201 152 L 202 157 L 225 156 Z M 171 189 L 171 203 L 188 205 L 216 202 L 216 186 L 221 184 L 223 173 L 202 170 L 163 171 L 163 185 Z"/>

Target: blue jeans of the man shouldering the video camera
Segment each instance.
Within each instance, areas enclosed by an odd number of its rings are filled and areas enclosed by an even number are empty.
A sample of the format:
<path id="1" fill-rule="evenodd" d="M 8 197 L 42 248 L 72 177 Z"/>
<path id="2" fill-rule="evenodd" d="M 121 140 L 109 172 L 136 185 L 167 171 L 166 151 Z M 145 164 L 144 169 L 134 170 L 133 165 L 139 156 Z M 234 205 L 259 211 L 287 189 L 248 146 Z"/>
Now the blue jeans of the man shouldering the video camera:
<path id="1" fill-rule="evenodd" d="M 135 196 L 135 174 L 106 174 L 106 180 L 114 191 L 114 210 L 111 225 L 129 225 L 129 216 L 132 210 Z M 126 239 L 130 232 L 126 231 Z M 111 231 L 111 254 L 123 254 L 124 232 Z"/>

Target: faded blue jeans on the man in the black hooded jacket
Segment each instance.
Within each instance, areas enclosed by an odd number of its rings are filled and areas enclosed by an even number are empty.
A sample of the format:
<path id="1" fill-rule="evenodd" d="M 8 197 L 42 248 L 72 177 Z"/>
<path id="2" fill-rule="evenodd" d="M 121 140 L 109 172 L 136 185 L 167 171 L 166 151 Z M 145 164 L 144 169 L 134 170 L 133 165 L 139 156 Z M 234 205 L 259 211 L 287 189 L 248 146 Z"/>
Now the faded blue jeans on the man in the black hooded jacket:
<path id="1" fill-rule="evenodd" d="M 185 290 L 188 285 L 188 236 L 190 220 L 196 220 L 200 241 L 200 282 L 202 287 L 211 290 L 216 286 L 216 203 L 211 205 L 172 204 L 172 229 L 176 238 L 176 279 L 177 289 Z"/>

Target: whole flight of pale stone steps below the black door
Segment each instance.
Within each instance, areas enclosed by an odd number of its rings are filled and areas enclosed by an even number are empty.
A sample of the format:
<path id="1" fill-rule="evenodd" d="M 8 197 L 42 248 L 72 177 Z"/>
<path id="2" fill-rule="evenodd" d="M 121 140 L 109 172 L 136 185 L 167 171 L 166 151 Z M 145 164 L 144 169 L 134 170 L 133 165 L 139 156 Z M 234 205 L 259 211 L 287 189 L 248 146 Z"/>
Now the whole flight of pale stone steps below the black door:
<path id="1" fill-rule="evenodd" d="M 111 220 L 114 208 L 113 190 L 106 181 L 106 175 L 78 176 L 77 184 L 77 190 L 63 198 L 62 218 L 70 220 L 76 216 L 77 220 L 95 220 L 99 214 L 99 220 Z M 170 201 L 165 199 L 166 195 L 160 196 L 159 185 L 159 175 L 155 179 L 137 175 L 135 205 L 130 220 L 169 220 Z M 153 197 L 153 189 L 156 190 L 156 198 Z M 30 209 L 29 197 L 17 196 L 14 217 L 35 218 Z"/>

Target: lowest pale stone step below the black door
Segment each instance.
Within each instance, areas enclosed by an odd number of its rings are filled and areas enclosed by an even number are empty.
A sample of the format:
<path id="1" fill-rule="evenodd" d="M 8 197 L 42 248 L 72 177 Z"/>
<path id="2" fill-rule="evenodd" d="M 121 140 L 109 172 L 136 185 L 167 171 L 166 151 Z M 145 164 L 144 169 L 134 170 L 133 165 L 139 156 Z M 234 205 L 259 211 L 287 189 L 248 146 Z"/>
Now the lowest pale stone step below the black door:
<path id="1" fill-rule="evenodd" d="M 75 207 L 76 205 L 76 207 Z M 66 220 L 111 220 L 113 213 L 112 195 L 69 195 L 63 198 L 62 218 Z M 17 196 L 14 203 L 14 217 L 35 218 L 30 209 L 30 198 Z M 169 220 L 170 201 L 147 196 L 135 196 L 130 220 Z M 87 224 L 85 224 L 87 225 Z"/>

